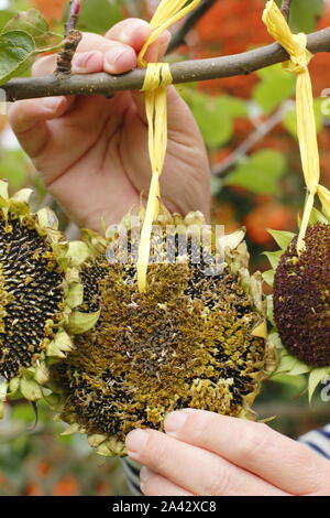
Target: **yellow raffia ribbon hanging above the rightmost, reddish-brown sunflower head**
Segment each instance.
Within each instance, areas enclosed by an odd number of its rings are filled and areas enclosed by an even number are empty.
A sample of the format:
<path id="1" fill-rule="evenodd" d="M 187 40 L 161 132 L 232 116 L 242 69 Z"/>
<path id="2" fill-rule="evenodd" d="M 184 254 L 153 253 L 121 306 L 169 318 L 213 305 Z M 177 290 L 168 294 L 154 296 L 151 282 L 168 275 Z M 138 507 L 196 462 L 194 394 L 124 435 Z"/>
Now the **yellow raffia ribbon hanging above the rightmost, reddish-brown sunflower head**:
<path id="1" fill-rule="evenodd" d="M 330 192 L 319 185 L 320 159 L 317 141 L 317 129 L 314 112 L 314 99 L 308 64 L 312 54 L 306 48 L 307 36 L 304 33 L 293 34 L 284 15 L 274 2 L 266 3 L 263 13 L 263 22 L 268 33 L 289 54 L 290 61 L 284 63 L 284 68 L 297 75 L 296 105 L 297 105 L 297 132 L 300 148 L 300 157 L 305 183 L 308 188 L 308 197 L 304 209 L 297 250 L 304 250 L 305 235 L 314 207 L 315 195 L 318 193 L 323 209 L 330 213 Z"/>

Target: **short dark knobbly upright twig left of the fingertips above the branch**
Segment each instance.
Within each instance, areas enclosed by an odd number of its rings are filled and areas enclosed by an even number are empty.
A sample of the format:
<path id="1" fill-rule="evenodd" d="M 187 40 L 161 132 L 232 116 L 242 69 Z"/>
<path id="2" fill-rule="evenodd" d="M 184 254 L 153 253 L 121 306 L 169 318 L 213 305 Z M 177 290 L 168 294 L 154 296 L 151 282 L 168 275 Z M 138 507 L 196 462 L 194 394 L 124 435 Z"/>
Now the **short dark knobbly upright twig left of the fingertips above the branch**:
<path id="1" fill-rule="evenodd" d="M 80 0 L 70 0 L 68 21 L 65 25 L 65 43 L 57 56 L 55 75 L 63 77 L 72 73 L 72 62 L 82 34 L 76 31 L 79 19 Z"/>

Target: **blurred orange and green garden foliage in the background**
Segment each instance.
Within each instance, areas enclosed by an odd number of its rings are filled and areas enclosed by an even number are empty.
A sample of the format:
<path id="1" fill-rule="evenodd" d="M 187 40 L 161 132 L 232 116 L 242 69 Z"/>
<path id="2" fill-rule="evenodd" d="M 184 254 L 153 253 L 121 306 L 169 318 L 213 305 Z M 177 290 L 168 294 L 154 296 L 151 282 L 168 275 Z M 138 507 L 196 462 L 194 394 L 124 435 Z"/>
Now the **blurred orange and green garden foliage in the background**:
<path id="1" fill-rule="evenodd" d="M 0 0 L 0 29 L 20 10 L 36 8 L 63 33 L 66 0 Z M 158 1 L 85 0 L 80 29 L 105 33 L 123 18 L 150 19 Z M 261 21 L 264 0 L 217 0 L 169 61 L 235 54 L 271 42 Z M 330 24 L 330 2 L 294 0 L 290 25 L 312 32 Z M 179 24 L 173 32 L 179 30 Z M 322 184 L 330 188 L 329 54 L 310 64 L 318 126 Z M 276 246 L 267 228 L 295 230 L 305 187 L 295 122 L 295 77 L 275 65 L 249 76 L 178 86 L 200 126 L 212 168 L 212 223 L 227 231 L 248 230 L 251 269 L 270 268 L 265 250 Z M 329 90 L 330 91 L 330 90 Z M 47 194 L 31 162 L 0 116 L 0 177 L 12 191 L 35 190 L 37 206 L 52 206 L 62 228 L 73 225 Z M 265 287 L 267 291 L 267 287 Z M 300 377 L 276 377 L 264 384 L 254 409 L 270 425 L 297 438 L 330 422 L 330 406 L 315 397 L 308 404 Z M 0 421 L 0 496 L 3 495 L 127 495 L 117 460 L 103 460 L 85 438 L 61 436 L 64 427 L 38 406 L 38 419 L 29 403 L 15 401 Z"/>

